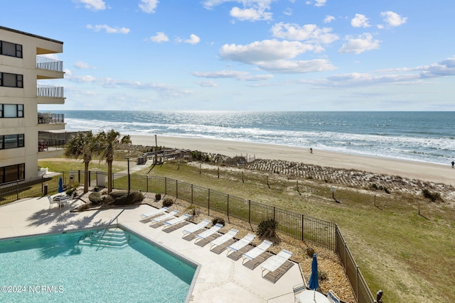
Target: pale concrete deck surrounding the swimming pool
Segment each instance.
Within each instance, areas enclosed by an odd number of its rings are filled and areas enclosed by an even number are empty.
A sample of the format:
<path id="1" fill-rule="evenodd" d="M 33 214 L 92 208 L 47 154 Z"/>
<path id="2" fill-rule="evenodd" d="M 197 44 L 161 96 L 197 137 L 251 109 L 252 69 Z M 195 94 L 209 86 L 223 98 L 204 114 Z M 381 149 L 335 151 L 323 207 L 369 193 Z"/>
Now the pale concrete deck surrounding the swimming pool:
<path id="1" fill-rule="evenodd" d="M 150 223 L 139 221 L 140 215 L 150 211 L 152 206 L 142 204 L 118 209 L 70 212 L 70 209 L 79 204 L 82 202 L 75 200 L 70 206 L 59 209 L 55 204 L 50 206 L 47 197 L 39 197 L 0 206 L 0 238 L 105 226 L 125 209 L 118 217 L 119 224 L 200 265 L 190 302 L 235 302 L 239 299 L 242 302 L 294 302 L 292 287 L 304 282 L 297 263 L 277 282 L 272 283 L 262 277 L 260 265 L 250 270 L 242 265 L 242 258 L 235 261 L 228 258 L 225 251 L 219 255 L 211 252 L 209 244 L 200 247 L 194 244 L 194 240 L 183 239 L 182 231 L 188 226 L 166 233 L 162 227 L 152 228 Z"/>

